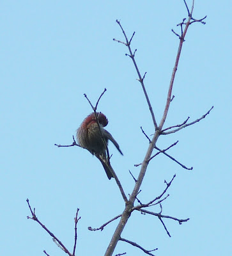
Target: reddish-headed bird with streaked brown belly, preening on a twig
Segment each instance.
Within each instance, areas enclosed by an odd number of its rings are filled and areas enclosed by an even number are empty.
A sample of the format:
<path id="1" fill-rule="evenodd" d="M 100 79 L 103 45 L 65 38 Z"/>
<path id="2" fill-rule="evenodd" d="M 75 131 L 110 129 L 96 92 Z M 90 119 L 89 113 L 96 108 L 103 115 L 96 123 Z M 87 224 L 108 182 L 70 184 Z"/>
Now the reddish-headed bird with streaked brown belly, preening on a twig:
<path id="1" fill-rule="evenodd" d="M 112 167 L 110 166 L 109 161 L 107 161 L 106 158 L 106 148 L 104 141 L 102 140 L 102 136 L 105 140 L 106 145 L 108 144 L 108 141 L 111 140 L 112 143 L 114 143 L 114 146 L 118 149 L 118 151 L 122 155 L 123 153 L 121 152 L 120 146 L 118 145 L 116 140 L 114 140 L 114 138 L 112 138 L 112 135 L 104 129 L 104 127 L 108 124 L 108 120 L 105 115 L 102 113 L 97 113 L 97 116 L 102 134 L 99 131 L 97 120 L 95 118 L 95 113 L 91 113 L 84 119 L 79 129 L 77 129 L 77 141 L 82 148 L 86 148 L 91 154 L 95 155 L 100 160 L 105 169 L 108 179 L 111 179 L 113 177 L 111 173 Z"/>

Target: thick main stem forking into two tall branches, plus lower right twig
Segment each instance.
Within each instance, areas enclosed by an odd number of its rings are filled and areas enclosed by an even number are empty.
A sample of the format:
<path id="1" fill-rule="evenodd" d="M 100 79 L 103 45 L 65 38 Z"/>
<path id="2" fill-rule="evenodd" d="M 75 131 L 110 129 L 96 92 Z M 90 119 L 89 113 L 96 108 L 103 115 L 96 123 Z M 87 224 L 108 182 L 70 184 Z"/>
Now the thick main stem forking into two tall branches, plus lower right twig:
<path id="1" fill-rule="evenodd" d="M 122 31 L 123 35 L 125 36 L 126 45 L 128 47 L 128 51 L 130 53 L 130 54 L 128 54 L 128 56 L 130 56 L 130 58 L 132 59 L 132 61 L 134 63 L 135 70 L 136 70 L 137 75 L 139 77 L 139 82 L 141 83 L 144 95 L 146 97 L 146 101 L 148 102 L 148 106 L 149 106 L 149 109 L 150 109 L 151 117 L 152 117 L 153 124 L 154 124 L 154 127 L 155 127 L 155 134 L 153 135 L 153 138 L 152 138 L 152 140 L 150 141 L 150 143 L 148 145 L 148 150 L 146 151 L 146 155 L 144 157 L 143 163 L 141 164 L 141 170 L 139 172 L 139 176 L 137 178 L 137 182 L 135 182 L 134 189 L 133 189 L 133 191 L 132 191 L 132 193 L 130 195 L 130 198 L 129 198 L 128 202 L 125 205 L 125 209 L 124 209 L 123 214 L 121 216 L 121 220 L 118 223 L 118 226 L 116 227 L 116 230 L 114 231 L 112 239 L 111 239 L 111 241 L 109 243 L 109 246 L 107 247 L 107 250 L 105 252 L 105 256 L 111 256 L 112 253 L 114 252 L 116 244 L 118 243 L 118 241 L 120 239 L 121 233 L 123 232 L 123 229 L 125 228 L 125 225 L 127 224 L 128 218 L 130 218 L 131 209 L 134 206 L 134 202 L 135 202 L 135 198 L 137 196 L 137 193 L 138 193 L 139 189 L 141 188 L 141 184 L 143 182 L 144 175 L 146 173 L 146 169 L 147 169 L 148 164 L 149 164 L 149 159 L 151 157 L 153 149 L 155 148 L 155 144 L 157 143 L 157 140 L 158 140 L 158 138 L 160 136 L 160 131 L 162 130 L 162 128 L 164 126 L 164 123 L 166 122 L 166 118 L 167 118 L 167 113 L 169 111 L 170 102 L 173 99 L 172 91 L 173 91 L 174 78 L 175 78 L 175 75 L 176 75 L 176 70 L 178 68 L 178 63 L 179 63 L 179 60 L 180 60 L 180 54 L 182 52 L 182 46 L 183 46 L 183 42 L 185 40 L 185 35 L 186 35 L 187 30 L 188 30 L 189 25 L 190 25 L 193 8 L 194 8 L 194 0 L 192 1 L 192 9 L 190 10 L 190 15 L 189 15 L 190 17 L 189 17 L 189 19 L 187 20 L 186 24 L 183 24 L 184 20 L 182 21 L 182 25 L 181 25 L 181 27 L 182 27 L 182 36 L 180 36 L 180 44 L 179 44 L 179 47 L 178 47 L 178 52 L 176 54 L 176 60 L 175 60 L 175 63 L 174 63 L 173 73 L 171 75 L 171 80 L 170 80 L 170 83 L 169 83 L 169 90 L 167 92 L 166 106 L 164 108 L 164 113 L 163 113 L 163 116 L 162 116 L 162 118 L 160 120 L 159 127 L 157 126 L 157 122 L 155 120 L 155 115 L 153 113 L 153 109 L 152 109 L 152 106 L 150 104 L 150 99 L 149 99 L 149 97 L 148 97 L 148 95 L 146 93 L 146 88 L 144 87 L 143 78 L 141 77 L 141 74 L 140 74 L 139 69 L 137 67 L 137 63 L 135 62 L 134 55 L 133 55 L 132 50 L 130 48 L 131 42 L 128 41 L 127 35 L 125 34 L 125 31 L 123 30 L 120 22 L 118 20 L 116 20 L 116 22 L 118 23 L 118 25 L 121 28 L 121 31 Z M 184 29 L 183 29 L 183 27 L 184 27 Z M 155 212 L 151 212 L 150 213 L 149 211 L 146 211 L 144 209 L 139 209 L 138 211 L 141 211 L 141 212 L 144 212 L 144 213 L 153 214 L 153 215 L 157 214 Z M 187 221 L 187 220 L 178 220 L 178 219 L 176 219 L 174 217 L 164 216 L 162 214 L 157 214 L 157 216 L 160 217 L 160 218 L 173 218 L 173 220 L 177 220 L 177 221 L 179 221 L 179 223 L 182 223 L 182 221 Z"/>

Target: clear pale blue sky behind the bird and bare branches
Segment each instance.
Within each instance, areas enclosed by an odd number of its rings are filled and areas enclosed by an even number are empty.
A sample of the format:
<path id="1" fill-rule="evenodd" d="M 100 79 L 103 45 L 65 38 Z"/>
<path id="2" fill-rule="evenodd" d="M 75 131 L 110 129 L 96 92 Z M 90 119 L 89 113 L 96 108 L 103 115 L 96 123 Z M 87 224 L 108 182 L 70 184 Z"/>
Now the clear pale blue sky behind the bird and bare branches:
<path id="1" fill-rule="evenodd" d="M 190 1 L 188 1 L 189 3 Z M 135 176 L 153 133 L 148 106 L 135 68 L 125 56 L 119 19 L 129 35 L 157 121 L 178 47 L 171 29 L 187 17 L 178 1 L 1 1 L 1 255 L 65 255 L 35 221 L 27 220 L 31 206 L 40 220 L 68 248 L 73 246 L 73 218 L 80 208 L 77 255 L 104 255 L 118 221 L 100 227 L 120 214 L 123 199 L 113 179 L 108 180 L 98 160 L 70 144 L 82 120 L 91 113 L 84 98 L 94 103 L 104 88 L 99 111 L 109 119 L 107 130 L 120 144 L 113 145 L 112 166 L 125 191 L 131 193 Z M 156 255 L 232 255 L 231 252 L 231 1 L 196 0 L 194 17 L 207 15 L 206 25 L 192 24 L 183 45 L 174 83 L 174 100 L 165 127 L 210 115 L 194 126 L 162 136 L 169 154 L 151 161 L 139 198 L 146 203 L 171 180 L 163 214 L 190 218 L 178 225 L 138 212 L 122 237 Z M 176 30 L 178 31 L 178 30 Z M 153 211 L 159 212 L 159 207 Z M 116 253 L 144 255 L 118 243 Z"/>

